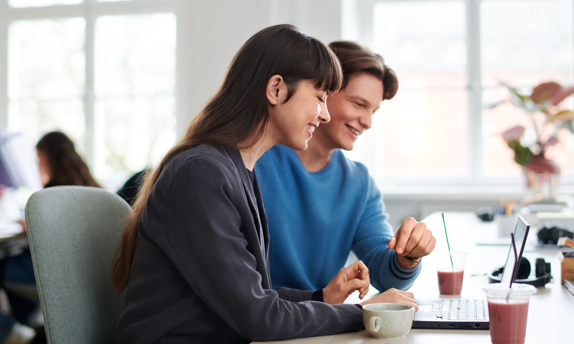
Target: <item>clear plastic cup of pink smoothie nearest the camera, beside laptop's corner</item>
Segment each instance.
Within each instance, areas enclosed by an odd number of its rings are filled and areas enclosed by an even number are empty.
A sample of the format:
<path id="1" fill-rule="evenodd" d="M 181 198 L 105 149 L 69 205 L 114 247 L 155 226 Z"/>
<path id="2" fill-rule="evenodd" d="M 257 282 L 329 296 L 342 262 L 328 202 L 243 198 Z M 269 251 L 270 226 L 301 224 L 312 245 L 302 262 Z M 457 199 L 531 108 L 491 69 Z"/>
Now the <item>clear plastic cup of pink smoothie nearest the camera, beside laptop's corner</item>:
<path id="1" fill-rule="evenodd" d="M 492 344 L 524 344 L 530 295 L 536 288 L 530 284 L 493 283 L 484 286 L 490 316 Z"/>

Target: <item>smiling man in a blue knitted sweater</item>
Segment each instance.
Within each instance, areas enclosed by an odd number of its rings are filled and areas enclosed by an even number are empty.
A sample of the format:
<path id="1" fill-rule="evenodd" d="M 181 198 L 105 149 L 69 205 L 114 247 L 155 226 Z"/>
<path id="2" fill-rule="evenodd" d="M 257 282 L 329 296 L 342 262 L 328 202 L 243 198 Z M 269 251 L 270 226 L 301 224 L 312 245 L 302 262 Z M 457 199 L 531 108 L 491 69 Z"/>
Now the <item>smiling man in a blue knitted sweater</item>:
<path id="1" fill-rule="evenodd" d="M 371 127 L 373 113 L 395 95 L 398 81 L 378 54 L 352 42 L 330 46 L 345 79 L 344 89 L 327 98 L 331 121 L 309 128 L 314 137 L 307 150 L 275 146 L 255 165 L 269 224 L 272 285 L 325 288 L 352 250 L 379 291 L 406 290 L 436 240 L 413 218 L 393 234 L 373 178 L 341 151 L 351 150 Z"/>

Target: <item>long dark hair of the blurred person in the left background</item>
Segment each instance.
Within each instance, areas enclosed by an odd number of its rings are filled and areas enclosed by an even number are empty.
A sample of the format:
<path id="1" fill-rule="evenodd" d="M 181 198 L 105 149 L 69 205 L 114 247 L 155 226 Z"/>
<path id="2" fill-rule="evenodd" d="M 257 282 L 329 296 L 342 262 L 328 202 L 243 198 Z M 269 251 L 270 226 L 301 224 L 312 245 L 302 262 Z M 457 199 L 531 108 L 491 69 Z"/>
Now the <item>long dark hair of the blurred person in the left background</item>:
<path id="1" fill-rule="evenodd" d="M 90 169 L 77 154 L 71 139 L 63 132 L 52 131 L 42 136 L 36 149 L 44 154 L 50 169 L 49 185 L 80 185 L 101 187 Z"/>

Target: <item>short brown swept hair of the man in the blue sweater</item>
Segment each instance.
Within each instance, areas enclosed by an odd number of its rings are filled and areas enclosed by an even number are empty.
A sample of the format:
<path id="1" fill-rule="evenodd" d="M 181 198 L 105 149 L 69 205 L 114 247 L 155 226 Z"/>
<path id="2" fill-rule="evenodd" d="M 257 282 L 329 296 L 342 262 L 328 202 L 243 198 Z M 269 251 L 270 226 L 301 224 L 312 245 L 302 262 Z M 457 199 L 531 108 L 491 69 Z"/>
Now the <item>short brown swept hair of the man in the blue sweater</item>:
<path id="1" fill-rule="evenodd" d="M 335 52 L 341 66 L 345 87 L 352 75 L 359 72 L 369 73 L 383 81 L 383 99 L 391 99 L 397 94 L 398 80 L 393 69 L 385 64 L 379 54 L 371 52 L 368 48 L 350 41 L 336 41 L 329 44 Z"/>

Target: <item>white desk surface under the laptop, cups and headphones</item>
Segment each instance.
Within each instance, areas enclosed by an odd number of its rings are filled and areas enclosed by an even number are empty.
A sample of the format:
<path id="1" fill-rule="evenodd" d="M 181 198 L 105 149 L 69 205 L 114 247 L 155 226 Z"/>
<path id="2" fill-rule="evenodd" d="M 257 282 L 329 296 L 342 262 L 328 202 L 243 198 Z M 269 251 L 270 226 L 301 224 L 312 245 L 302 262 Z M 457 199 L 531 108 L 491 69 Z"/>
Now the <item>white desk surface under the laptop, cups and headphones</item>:
<path id="1" fill-rule="evenodd" d="M 494 222 L 482 222 L 473 213 L 445 213 L 448 240 L 451 249 L 467 250 L 467 263 L 464 271 L 463 291 L 461 298 L 486 299 L 482 286 L 488 283 L 486 273 L 494 267 L 504 264 L 508 246 L 476 245 L 493 241 L 497 236 L 497 225 Z M 424 220 L 437 239 L 436 250 L 446 249 L 443 220 L 440 213 L 433 213 Z M 536 228 L 529 233 L 529 238 L 536 236 Z M 532 242 L 532 241 L 529 241 Z M 557 251 L 553 249 L 536 250 L 528 245 L 524 256 L 532 265 L 537 257 L 542 257 L 552 265 L 553 282 L 540 287 L 537 294 L 530 298 L 528 323 L 526 327 L 526 344 L 540 343 L 574 343 L 572 326 L 574 325 L 574 295 L 560 284 L 560 262 Z M 410 291 L 415 298 L 439 298 L 439 287 L 432 255 L 423 259 L 421 274 Z M 371 287 L 372 288 L 372 287 Z M 372 296 L 374 291 L 370 291 Z M 368 297 L 368 296 L 367 296 Z M 358 303 L 356 294 L 349 296 L 346 302 Z M 253 342 L 256 343 L 256 342 Z M 263 342 L 258 342 L 263 343 Z M 401 343 L 401 344 L 487 344 L 490 333 L 487 330 L 410 330 L 404 338 L 375 339 L 366 331 L 291 339 L 266 343 L 289 344 L 361 344 L 361 343 Z"/>

